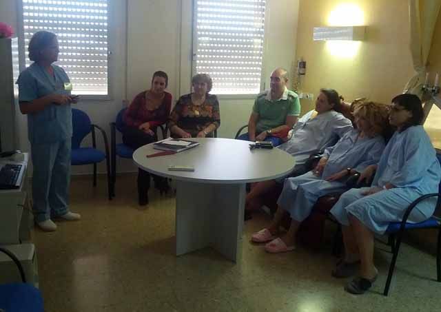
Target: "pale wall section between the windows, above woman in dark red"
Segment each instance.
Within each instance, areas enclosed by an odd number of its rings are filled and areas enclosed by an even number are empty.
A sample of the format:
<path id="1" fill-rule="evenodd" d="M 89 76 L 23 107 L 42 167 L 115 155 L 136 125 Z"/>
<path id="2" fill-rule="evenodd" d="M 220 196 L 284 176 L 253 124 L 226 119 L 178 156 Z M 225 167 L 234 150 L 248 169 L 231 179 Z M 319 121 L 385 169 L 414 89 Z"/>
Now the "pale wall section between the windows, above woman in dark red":
<path id="1" fill-rule="evenodd" d="M 169 76 L 167 90 L 178 94 L 181 1 L 130 0 L 127 3 L 127 99 L 149 89 L 152 74 Z"/>

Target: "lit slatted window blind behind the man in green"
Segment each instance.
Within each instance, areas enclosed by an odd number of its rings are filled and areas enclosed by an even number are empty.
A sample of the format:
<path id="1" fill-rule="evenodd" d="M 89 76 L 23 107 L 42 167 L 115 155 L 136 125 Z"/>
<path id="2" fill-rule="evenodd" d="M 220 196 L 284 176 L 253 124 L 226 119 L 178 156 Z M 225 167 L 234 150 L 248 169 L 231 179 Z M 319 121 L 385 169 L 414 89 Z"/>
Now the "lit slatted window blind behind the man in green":
<path id="1" fill-rule="evenodd" d="M 213 94 L 260 92 L 265 0 L 197 0 L 194 62 Z"/>

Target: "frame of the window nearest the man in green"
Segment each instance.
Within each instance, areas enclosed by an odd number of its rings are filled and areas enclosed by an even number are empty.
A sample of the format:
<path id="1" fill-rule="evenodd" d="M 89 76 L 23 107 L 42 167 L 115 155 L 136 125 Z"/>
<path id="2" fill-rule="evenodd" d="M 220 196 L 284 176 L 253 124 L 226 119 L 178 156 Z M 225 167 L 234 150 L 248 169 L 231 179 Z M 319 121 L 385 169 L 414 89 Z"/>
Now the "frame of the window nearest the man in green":
<path id="1" fill-rule="evenodd" d="M 197 52 L 197 8 L 198 8 L 198 0 L 192 0 L 192 58 L 191 58 L 191 69 L 192 69 L 192 77 L 197 74 L 196 72 L 196 52 Z M 265 1 L 265 20 L 264 20 L 264 28 L 263 28 L 263 43 L 262 43 L 262 65 L 260 67 L 260 88 L 259 92 L 256 94 L 216 94 L 217 98 L 220 100 L 249 100 L 249 99 L 255 99 L 258 94 L 265 91 L 265 54 L 267 52 L 267 25 L 268 25 L 268 18 L 269 14 L 267 13 L 269 0 Z M 190 79 L 190 92 L 192 92 L 192 85 L 191 85 L 191 79 Z"/>

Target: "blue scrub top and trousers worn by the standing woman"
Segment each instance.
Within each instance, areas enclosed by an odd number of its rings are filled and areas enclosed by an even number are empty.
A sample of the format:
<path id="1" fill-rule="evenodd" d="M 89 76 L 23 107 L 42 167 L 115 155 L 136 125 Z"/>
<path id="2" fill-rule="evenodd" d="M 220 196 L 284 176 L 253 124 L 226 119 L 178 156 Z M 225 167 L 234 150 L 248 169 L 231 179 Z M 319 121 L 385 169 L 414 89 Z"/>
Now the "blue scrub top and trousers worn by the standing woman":
<path id="1" fill-rule="evenodd" d="M 54 75 L 50 76 L 38 63 L 32 63 L 21 72 L 17 81 L 21 103 L 53 93 L 70 95 L 69 88 L 65 88 L 65 83 L 69 83 L 68 75 L 57 65 L 52 65 L 52 69 Z M 68 212 L 72 138 L 70 104 L 52 104 L 40 112 L 28 114 L 28 137 L 34 165 L 32 209 L 34 220 L 43 222 L 51 216 Z"/>

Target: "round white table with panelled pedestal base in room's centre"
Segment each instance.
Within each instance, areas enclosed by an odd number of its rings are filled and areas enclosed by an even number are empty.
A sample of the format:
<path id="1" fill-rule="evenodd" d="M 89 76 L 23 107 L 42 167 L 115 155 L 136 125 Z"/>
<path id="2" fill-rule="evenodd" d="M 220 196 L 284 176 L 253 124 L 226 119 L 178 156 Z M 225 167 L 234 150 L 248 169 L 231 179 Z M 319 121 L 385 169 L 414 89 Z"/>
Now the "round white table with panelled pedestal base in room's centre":
<path id="1" fill-rule="evenodd" d="M 161 152 L 153 144 L 136 149 L 134 163 L 152 174 L 176 180 L 176 255 L 207 246 L 236 262 L 241 246 L 245 185 L 279 178 L 294 168 L 294 158 L 280 149 L 249 149 L 248 141 L 189 138 L 200 145 L 183 152 Z M 169 171 L 189 165 L 194 171 Z"/>

